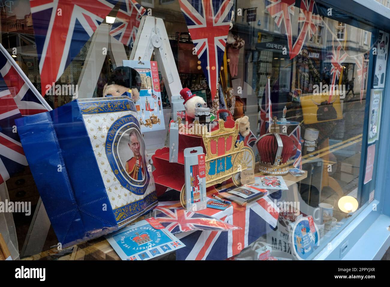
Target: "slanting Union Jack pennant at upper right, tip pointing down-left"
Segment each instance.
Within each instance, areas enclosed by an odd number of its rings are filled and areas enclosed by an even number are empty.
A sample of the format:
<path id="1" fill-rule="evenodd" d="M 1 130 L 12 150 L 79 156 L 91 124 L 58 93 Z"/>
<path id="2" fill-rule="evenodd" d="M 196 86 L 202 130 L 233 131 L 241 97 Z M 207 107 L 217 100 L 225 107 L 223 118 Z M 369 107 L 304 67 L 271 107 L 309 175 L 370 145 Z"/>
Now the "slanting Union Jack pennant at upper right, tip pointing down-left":
<path id="1" fill-rule="evenodd" d="M 303 23 L 303 26 L 293 45 L 293 49 L 290 50 L 290 60 L 301 52 L 307 36 L 311 39 L 313 34 L 317 31 L 317 25 L 322 21 L 321 16 L 313 14 L 314 4 L 316 4 L 316 2 L 313 0 L 301 0 L 301 12 L 298 16 L 298 23 Z"/>

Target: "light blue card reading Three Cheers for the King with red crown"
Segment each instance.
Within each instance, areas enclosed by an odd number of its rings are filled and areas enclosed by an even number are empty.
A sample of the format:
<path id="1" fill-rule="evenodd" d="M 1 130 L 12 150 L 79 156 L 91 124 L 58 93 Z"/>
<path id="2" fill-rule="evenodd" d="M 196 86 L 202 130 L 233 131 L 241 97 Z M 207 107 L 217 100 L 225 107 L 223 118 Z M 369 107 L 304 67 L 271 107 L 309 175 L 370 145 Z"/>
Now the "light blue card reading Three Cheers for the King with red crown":
<path id="1" fill-rule="evenodd" d="M 149 260 L 185 247 L 183 242 L 152 217 L 106 238 L 122 260 Z"/>

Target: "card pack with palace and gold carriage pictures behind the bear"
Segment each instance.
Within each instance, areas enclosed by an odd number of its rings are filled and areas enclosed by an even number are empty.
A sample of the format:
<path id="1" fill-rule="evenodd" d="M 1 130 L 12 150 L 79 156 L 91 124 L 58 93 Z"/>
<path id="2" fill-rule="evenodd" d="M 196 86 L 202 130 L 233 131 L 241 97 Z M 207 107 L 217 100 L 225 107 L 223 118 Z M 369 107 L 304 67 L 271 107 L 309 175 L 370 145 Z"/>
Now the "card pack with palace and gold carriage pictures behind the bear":
<path id="1" fill-rule="evenodd" d="M 155 61 L 124 60 L 124 66 L 135 69 L 140 74 L 140 98 L 135 102 L 141 132 L 164 130 L 163 104 L 161 101 L 160 79 Z"/>

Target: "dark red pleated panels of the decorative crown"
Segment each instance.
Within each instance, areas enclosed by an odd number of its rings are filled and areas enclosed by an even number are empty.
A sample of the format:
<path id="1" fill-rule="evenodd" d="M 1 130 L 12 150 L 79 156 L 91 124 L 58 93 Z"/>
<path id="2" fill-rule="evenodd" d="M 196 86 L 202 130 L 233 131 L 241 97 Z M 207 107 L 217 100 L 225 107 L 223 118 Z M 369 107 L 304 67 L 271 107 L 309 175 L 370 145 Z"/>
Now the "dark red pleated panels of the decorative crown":
<path id="1" fill-rule="evenodd" d="M 290 159 L 293 149 L 294 141 L 287 135 L 279 134 L 283 143 L 282 150 L 282 163 L 286 163 Z M 275 135 L 266 135 L 257 142 L 257 150 L 259 150 L 260 158 L 262 162 L 271 163 L 275 162 L 276 153 L 278 151 L 278 141 Z"/>

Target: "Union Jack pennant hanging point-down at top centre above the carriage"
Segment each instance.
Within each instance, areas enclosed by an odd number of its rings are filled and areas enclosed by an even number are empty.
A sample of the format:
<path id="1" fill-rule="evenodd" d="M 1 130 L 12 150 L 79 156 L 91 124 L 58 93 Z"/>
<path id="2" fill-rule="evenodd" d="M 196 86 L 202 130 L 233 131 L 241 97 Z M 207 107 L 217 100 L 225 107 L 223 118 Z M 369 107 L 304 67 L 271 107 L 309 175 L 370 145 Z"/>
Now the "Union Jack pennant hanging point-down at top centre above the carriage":
<path id="1" fill-rule="evenodd" d="M 234 0 L 179 0 L 179 3 L 214 100 Z"/>

